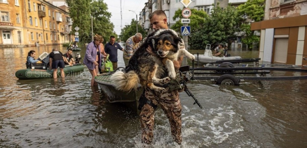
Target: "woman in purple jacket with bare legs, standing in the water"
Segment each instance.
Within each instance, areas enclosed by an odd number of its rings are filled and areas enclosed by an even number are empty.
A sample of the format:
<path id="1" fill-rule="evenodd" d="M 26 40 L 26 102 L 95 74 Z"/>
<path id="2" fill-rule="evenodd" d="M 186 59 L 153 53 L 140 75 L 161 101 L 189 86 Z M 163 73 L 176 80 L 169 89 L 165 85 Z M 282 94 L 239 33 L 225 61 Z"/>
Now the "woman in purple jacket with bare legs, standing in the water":
<path id="1" fill-rule="evenodd" d="M 85 57 L 83 63 L 87 66 L 88 70 L 91 72 L 92 80 L 91 86 L 97 85 L 95 83 L 95 77 L 97 76 L 98 67 L 101 67 L 101 50 L 100 43 L 103 42 L 103 37 L 100 35 L 94 36 L 94 41 L 86 46 Z"/>

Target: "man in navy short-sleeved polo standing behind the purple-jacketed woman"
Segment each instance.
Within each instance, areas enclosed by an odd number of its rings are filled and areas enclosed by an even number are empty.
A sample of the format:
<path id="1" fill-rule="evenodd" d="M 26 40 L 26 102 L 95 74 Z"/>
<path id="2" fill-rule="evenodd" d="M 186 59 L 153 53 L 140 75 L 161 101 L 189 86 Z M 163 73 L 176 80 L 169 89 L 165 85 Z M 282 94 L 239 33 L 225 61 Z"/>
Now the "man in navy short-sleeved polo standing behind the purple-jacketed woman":
<path id="1" fill-rule="evenodd" d="M 109 59 L 112 62 L 113 69 L 117 68 L 117 49 L 124 51 L 119 43 L 115 43 L 115 36 L 111 36 L 110 42 L 104 46 L 104 51 L 110 54 Z"/>

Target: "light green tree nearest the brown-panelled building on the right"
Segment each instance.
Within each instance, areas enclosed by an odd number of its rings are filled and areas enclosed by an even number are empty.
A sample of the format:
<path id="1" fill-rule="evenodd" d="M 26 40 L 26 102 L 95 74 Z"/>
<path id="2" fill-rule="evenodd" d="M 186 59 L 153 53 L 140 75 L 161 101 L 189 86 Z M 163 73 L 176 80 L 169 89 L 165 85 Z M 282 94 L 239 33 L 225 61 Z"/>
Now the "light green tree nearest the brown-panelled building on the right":
<path id="1" fill-rule="evenodd" d="M 252 48 L 254 42 L 259 42 L 260 37 L 256 31 L 251 31 L 251 22 L 262 21 L 264 18 L 265 0 L 247 0 L 244 5 L 237 8 L 242 24 L 239 29 L 243 32 L 242 43 Z"/>

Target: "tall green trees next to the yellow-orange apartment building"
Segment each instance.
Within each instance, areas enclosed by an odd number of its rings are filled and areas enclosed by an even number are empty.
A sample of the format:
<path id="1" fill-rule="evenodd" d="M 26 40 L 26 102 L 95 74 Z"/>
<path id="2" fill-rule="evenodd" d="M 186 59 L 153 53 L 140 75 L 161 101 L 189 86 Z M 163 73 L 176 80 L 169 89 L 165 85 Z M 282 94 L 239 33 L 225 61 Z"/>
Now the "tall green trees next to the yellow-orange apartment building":
<path id="1" fill-rule="evenodd" d="M 93 34 L 103 36 L 107 42 L 111 35 L 117 37 L 110 22 L 111 13 L 107 11 L 107 4 L 103 0 L 66 0 L 69 14 L 72 18 L 72 28 L 80 28 L 80 42 L 88 43 L 92 40 L 91 16 L 93 17 Z M 72 33 L 75 30 L 72 29 Z"/>

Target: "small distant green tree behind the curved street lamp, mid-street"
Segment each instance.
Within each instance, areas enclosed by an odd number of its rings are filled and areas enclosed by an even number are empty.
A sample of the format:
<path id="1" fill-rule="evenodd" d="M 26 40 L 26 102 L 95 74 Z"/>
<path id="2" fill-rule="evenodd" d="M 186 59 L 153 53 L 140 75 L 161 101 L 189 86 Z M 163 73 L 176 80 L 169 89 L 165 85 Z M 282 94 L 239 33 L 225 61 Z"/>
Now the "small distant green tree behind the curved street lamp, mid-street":
<path id="1" fill-rule="evenodd" d="M 136 34 L 136 24 L 137 21 L 132 19 L 130 25 L 125 25 L 125 27 L 122 28 L 121 33 L 119 35 L 122 41 L 126 42 L 127 39 L 129 39 L 132 35 Z M 139 24 L 138 32 L 142 34 L 143 38 L 147 36 L 147 32 Z"/>

